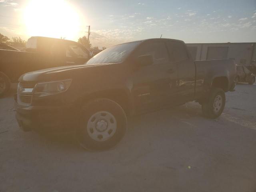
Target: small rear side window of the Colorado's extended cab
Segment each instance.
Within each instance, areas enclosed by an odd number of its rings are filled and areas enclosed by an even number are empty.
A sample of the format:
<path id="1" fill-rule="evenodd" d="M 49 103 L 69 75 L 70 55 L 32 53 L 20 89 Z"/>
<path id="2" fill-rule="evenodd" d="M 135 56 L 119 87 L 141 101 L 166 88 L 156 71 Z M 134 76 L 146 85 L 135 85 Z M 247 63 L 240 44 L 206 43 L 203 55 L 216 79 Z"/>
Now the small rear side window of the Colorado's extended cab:
<path id="1" fill-rule="evenodd" d="M 178 41 L 169 41 L 168 49 L 171 56 L 171 61 L 183 61 L 188 59 L 187 50 L 183 43 Z"/>

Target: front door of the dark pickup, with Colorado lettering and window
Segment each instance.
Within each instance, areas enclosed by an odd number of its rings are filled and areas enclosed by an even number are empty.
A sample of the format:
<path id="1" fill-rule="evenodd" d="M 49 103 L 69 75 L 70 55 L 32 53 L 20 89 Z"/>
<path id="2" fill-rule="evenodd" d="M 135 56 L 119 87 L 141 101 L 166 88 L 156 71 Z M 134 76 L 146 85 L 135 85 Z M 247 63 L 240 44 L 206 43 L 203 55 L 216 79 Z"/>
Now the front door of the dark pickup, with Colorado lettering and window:
<path id="1" fill-rule="evenodd" d="M 153 64 L 139 67 L 133 74 L 135 105 L 142 112 L 170 104 L 175 90 L 172 80 L 177 79 L 176 69 L 170 63 L 164 41 L 144 42 L 134 57 L 148 54 L 152 55 Z"/>

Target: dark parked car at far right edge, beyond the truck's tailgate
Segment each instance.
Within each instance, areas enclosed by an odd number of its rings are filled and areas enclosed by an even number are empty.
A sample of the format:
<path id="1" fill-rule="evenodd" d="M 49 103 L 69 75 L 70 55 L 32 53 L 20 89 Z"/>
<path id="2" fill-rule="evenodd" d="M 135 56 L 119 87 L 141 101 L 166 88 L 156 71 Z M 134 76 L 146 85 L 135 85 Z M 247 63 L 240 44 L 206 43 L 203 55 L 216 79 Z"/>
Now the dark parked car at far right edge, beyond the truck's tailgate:
<path id="1" fill-rule="evenodd" d="M 254 84 L 255 82 L 255 75 L 246 67 L 237 65 L 236 66 L 236 83 L 238 82 L 246 82 L 250 85 Z"/>

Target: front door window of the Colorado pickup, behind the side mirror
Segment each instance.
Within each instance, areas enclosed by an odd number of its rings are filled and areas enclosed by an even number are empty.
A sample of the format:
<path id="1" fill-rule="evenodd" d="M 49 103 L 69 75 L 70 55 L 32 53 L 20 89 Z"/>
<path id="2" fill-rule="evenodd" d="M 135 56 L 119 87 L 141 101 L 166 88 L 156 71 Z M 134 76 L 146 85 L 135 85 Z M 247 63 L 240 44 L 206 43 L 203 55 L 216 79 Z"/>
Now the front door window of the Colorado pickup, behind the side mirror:
<path id="1" fill-rule="evenodd" d="M 166 64 L 169 62 L 168 52 L 164 42 L 148 42 L 144 44 L 137 53 L 137 56 L 152 55 L 154 65 Z"/>

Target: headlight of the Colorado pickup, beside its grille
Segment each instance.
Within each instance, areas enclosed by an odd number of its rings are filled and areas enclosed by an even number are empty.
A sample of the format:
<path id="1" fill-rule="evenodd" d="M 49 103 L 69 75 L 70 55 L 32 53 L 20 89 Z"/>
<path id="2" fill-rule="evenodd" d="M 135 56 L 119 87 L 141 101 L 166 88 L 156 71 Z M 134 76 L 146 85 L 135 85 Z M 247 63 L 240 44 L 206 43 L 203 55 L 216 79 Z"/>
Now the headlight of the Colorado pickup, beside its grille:
<path id="1" fill-rule="evenodd" d="M 45 83 L 38 83 L 34 89 L 34 94 L 38 97 L 53 95 L 65 92 L 68 90 L 72 80 L 63 80 L 63 81 L 52 81 Z"/>

